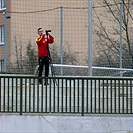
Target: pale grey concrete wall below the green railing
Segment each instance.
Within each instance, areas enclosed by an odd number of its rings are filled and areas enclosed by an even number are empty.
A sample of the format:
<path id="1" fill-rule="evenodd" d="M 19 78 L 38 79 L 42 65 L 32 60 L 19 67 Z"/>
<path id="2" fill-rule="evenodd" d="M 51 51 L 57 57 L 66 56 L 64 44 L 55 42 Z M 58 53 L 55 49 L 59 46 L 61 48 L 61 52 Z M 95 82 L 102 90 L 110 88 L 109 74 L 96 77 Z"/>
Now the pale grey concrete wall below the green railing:
<path id="1" fill-rule="evenodd" d="M 0 133 L 131 133 L 132 116 L 1 115 Z"/>

